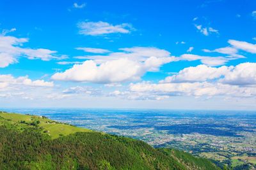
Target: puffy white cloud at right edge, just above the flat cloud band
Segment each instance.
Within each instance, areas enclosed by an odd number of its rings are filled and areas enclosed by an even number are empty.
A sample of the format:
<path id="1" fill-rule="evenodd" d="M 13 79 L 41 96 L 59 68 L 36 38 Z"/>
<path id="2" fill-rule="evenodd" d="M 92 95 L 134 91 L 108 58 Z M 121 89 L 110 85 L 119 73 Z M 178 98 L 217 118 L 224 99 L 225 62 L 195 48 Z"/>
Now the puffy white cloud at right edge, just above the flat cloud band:
<path id="1" fill-rule="evenodd" d="M 198 65 L 186 67 L 160 83 L 183 83 L 214 80 L 229 85 L 256 85 L 256 63 L 244 62 L 237 66 L 209 67 Z"/>

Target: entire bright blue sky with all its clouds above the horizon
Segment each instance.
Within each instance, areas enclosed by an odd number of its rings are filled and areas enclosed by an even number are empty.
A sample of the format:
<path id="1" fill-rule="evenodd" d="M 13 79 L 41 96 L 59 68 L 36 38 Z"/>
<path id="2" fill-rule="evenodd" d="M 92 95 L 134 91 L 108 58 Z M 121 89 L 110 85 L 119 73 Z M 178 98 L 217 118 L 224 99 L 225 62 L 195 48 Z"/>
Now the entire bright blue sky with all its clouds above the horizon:
<path id="1" fill-rule="evenodd" d="M 253 0 L 3 0 L 0 16 L 0 107 L 256 109 Z"/>

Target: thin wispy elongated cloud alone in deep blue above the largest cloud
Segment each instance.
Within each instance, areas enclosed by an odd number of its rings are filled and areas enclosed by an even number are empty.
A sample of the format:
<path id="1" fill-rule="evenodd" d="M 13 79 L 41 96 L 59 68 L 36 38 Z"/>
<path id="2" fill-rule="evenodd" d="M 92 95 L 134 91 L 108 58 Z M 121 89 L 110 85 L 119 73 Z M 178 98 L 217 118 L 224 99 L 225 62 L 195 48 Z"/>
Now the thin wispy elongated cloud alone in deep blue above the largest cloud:
<path id="1" fill-rule="evenodd" d="M 79 34 L 90 35 L 90 36 L 99 36 L 103 34 L 112 34 L 112 33 L 122 33 L 128 34 L 134 28 L 131 24 L 120 24 L 120 25 L 112 25 L 108 22 L 79 22 L 77 24 L 79 28 Z"/>

